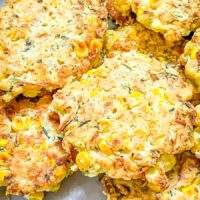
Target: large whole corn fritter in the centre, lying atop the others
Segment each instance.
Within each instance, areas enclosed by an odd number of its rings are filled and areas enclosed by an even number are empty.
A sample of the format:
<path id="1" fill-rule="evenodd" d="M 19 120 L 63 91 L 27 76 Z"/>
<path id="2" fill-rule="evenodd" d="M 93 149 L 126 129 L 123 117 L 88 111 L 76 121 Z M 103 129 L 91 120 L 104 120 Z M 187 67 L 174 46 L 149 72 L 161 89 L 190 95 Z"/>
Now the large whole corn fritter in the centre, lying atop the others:
<path id="1" fill-rule="evenodd" d="M 193 87 L 175 68 L 136 51 L 105 59 L 80 81 L 68 79 L 50 114 L 63 147 L 89 176 L 143 178 L 162 153 L 193 146 Z"/>

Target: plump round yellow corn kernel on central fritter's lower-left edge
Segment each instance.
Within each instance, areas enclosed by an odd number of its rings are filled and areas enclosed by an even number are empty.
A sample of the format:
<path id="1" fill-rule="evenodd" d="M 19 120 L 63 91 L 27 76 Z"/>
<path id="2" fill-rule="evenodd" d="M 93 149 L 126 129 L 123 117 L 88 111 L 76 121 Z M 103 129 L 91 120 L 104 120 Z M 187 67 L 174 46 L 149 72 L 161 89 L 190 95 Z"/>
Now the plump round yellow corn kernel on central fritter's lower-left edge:
<path id="1" fill-rule="evenodd" d="M 87 151 L 82 151 L 76 156 L 76 164 L 82 170 L 88 169 L 91 164 L 91 161 L 92 158 Z"/>

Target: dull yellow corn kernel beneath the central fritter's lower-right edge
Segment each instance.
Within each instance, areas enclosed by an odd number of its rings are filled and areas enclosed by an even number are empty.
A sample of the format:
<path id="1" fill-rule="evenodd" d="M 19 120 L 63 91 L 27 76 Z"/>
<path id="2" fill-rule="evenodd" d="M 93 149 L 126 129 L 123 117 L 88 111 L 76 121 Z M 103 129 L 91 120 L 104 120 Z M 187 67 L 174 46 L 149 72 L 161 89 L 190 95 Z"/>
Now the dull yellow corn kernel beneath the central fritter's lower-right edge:
<path id="1" fill-rule="evenodd" d="M 161 166 L 165 172 L 170 171 L 176 164 L 176 157 L 170 154 L 163 154 L 158 159 L 157 164 Z"/>

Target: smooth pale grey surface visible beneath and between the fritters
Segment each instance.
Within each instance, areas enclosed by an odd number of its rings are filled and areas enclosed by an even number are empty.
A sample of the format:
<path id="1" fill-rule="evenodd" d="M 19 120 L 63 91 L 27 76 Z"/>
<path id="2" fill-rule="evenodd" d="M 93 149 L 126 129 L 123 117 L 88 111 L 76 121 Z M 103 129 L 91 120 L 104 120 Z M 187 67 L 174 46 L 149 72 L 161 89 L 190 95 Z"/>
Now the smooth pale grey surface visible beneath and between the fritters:
<path id="1" fill-rule="evenodd" d="M 0 6 L 3 5 L 0 0 Z M 84 177 L 80 172 L 67 178 L 61 189 L 56 193 L 48 193 L 45 200 L 105 200 L 102 186 L 98 178 Z M 0 200 L 5 198 L 0 197 Z M 20 197 L 11 197 L 12 200 L 22 200 Z"/>

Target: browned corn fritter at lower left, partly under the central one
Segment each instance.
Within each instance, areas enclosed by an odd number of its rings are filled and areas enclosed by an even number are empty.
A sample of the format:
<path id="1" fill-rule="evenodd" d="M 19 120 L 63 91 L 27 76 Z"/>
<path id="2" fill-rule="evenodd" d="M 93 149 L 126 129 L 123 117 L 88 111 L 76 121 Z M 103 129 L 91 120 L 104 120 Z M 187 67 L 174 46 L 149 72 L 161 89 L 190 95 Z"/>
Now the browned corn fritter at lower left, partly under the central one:
<path id="1" fill-rule="evenodd" d="M 44 191 L 57 191 L 70 174 L 56 119 L 45 115 L 50 102 L 47 95 L 37 103 L 13 101 L 0 110 L 0 185 L 7 194 L 43 199 Z"/>

